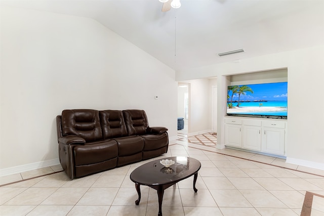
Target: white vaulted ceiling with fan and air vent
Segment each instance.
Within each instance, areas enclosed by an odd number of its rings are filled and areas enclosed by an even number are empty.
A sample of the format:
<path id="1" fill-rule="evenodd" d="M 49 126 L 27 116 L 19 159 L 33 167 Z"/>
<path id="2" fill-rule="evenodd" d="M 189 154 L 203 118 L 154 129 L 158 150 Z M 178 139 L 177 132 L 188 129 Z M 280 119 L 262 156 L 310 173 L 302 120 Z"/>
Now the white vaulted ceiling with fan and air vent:
<path id="1" fill-rule="evenodd" d="M 171 0 L 169 0 L 171 1 Z M 324 44 L 324 1 L 24 0 L 2 5 L 97 20 L 174 70 Z M 219 57 L 237 49 L 244 53 Z"/>

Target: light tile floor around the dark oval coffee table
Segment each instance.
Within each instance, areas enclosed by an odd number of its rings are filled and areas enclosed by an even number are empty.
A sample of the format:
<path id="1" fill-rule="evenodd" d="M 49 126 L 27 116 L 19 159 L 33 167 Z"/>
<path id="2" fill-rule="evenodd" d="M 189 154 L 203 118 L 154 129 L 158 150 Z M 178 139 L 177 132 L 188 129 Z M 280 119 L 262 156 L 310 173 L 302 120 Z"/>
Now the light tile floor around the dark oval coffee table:
<path id="1" fill-rule="evenodd" d="M 197 193 L 193 177 L 165 191 L 164 216 L 301 215 L 306 191 L 320 195 L 312 200 L 311 216 L 324 215 L 324 170 L 180 140 L 170 142 L 168 153 L 154 160 L 169 156 L 196 158 L 201 169 Z M 151 188 L 141 187 L 141 202 L 135 205 L 138 195 L 130 174 L 146 162 L 73 181 L 60 166 L 1 178 L 0 215 L 157 215 L 157 194 Z"/>

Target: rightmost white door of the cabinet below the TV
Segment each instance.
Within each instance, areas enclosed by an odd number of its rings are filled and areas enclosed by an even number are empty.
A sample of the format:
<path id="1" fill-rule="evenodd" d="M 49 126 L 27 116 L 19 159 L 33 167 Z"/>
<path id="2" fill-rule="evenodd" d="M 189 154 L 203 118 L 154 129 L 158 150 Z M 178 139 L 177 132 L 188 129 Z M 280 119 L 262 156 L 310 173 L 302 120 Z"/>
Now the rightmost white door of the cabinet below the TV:
<path id="1" fill-rule="evenodd" d="M 285 129 L 263 127 L 261 151 L 285 155 Z"/>

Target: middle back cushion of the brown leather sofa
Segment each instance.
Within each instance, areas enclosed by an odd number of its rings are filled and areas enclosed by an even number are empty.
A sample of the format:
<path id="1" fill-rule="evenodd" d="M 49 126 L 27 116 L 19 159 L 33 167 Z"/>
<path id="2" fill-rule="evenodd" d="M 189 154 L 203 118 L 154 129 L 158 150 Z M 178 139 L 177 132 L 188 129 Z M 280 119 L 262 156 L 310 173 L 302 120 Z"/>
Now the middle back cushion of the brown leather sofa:
<path id="1" fill-rule="evenodd" d="M 102 110 L 99 111 L 99 115 L 103 139 L 125 137 L 128 135 L 123 111 Z"/>

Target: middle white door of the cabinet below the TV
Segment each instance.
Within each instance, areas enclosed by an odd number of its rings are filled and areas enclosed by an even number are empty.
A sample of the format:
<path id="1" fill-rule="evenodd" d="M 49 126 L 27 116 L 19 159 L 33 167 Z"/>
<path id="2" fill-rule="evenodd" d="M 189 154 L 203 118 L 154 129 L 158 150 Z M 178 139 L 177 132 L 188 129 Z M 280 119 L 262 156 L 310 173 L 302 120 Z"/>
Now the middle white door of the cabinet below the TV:
<path id="1" fill-rule="evenodd" d="M 242 131 L 243 148 L 261 151 L 261 127 L 243 125 Z"/>

